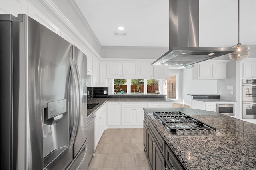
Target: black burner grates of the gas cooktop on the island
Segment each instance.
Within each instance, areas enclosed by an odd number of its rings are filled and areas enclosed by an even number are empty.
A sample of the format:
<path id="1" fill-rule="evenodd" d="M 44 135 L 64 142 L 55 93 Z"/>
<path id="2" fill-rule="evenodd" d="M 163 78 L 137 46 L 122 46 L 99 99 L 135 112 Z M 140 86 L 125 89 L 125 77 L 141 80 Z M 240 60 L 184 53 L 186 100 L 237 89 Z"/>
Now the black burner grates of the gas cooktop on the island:
<path id="1" fill-rule="evenodd" d="M 153 115 L 162 122 L 163 125 L 169 128 L 170 132 L 176 132 L 179 130 L 215 130 L 216 128 L 208 125 L 198 119 L 191 117 L 190 115 L 186 115 L 182 112 L 153 112 Z"/>

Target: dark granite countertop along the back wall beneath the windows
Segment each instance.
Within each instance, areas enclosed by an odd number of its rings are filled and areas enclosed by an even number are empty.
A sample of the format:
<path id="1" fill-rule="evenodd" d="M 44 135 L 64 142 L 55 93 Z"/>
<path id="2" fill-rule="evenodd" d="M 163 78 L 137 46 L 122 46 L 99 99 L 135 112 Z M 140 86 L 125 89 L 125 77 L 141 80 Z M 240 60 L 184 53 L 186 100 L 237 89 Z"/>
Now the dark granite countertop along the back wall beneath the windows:
<path id="1" fill-rule="evenodd" d="M 87 103 L 99 103 L 97 106 L 95 106 L 92 109 L 87 109 L 87 117 L 90 116 L 94 111 L 96 111 L 101 105 L 103 105 L 107 101 L 173 101 L 166 98 L 92 98 L 87 100 Z"/>

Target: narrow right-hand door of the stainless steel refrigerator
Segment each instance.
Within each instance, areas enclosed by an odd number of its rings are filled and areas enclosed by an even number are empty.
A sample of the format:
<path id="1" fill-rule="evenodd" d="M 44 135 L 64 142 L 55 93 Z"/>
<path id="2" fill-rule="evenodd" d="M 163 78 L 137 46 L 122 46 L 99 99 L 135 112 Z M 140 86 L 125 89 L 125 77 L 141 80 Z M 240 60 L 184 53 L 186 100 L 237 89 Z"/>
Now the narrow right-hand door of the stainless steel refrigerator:
<path id="1" fill-rule="evenodd" d="M 80 117 L 76 138 L 74 142 L 74 157 L 84 145 L 87 139 L 87 71 L 86 71 L 86 55 L 73 45 L 73 59 L 77 68 L 78 81 L 80 88 Z"/>

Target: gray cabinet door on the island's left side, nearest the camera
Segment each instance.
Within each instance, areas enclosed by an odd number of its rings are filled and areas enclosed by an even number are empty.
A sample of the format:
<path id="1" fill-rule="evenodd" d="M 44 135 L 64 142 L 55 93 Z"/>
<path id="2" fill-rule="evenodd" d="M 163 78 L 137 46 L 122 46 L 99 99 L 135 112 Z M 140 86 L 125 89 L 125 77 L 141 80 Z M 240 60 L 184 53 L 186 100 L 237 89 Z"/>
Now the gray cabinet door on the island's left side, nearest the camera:
<path id="1" fill-rule="evenodd" d="M 154 163 L 153 170 L 164 170 L 164 156 L 161 154 L 157 144 L 154 144 Z"/>

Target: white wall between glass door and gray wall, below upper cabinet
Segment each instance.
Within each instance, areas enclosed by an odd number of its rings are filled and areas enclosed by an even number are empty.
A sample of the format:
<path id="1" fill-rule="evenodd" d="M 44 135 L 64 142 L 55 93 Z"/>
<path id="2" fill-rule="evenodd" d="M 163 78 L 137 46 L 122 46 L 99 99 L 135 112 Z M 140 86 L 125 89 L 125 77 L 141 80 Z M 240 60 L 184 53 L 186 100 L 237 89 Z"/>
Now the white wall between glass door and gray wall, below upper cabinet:
<path id="1" fill-rule="evenodd" d="M 217 92 L 217 80 L 193 80 L 192 70 L 183 70 L 182 98 L 186 105 L 191 103 L 191 96 L 188 96 L 188 94 L 216 94 Z"/>

